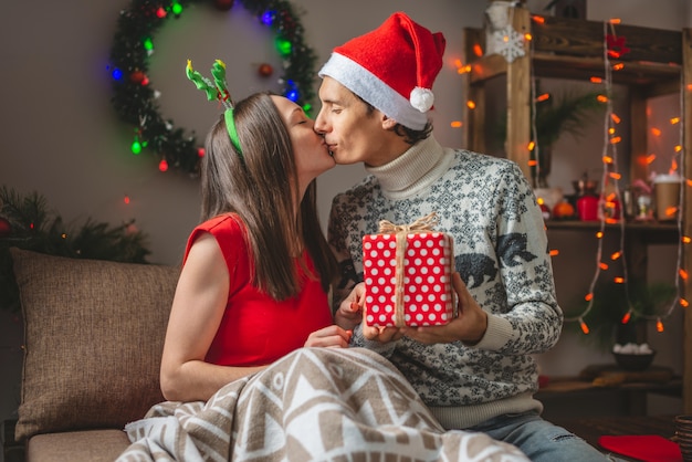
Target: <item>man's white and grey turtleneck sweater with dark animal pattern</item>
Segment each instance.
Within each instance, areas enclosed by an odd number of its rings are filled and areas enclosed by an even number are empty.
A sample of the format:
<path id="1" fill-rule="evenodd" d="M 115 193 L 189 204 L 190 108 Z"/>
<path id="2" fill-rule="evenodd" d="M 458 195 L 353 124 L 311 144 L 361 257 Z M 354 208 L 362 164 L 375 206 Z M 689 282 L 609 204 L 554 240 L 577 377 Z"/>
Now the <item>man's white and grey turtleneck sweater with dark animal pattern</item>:
<path id="1" fill-rule="evenodd" d="M 454 239 L 455 270 L 487 313 L 480 343 L 422 345 L 410 338 L 369 342 L 356 328 L 352 346 L 379 351 L 397 366 L 447 429 L 541 411 L 533 398 L 532 355 L 559 338 L 563 313 L 541 210 L 516 164 L 443 148 L 431 136 L 377 168 L 332 203 L 328 241 L 342 267 L 334 306 L 363 280 L 363 235 L 380 220 L 407 224 L 437 212 L 437 231 Z"/>

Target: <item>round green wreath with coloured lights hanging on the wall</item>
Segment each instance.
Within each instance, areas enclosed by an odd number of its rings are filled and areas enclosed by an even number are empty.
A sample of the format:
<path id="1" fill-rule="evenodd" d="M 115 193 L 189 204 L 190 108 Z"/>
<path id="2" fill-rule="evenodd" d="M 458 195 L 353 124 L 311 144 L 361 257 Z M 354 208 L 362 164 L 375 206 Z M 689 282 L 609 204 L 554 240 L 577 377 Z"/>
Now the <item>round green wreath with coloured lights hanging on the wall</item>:
<path id="1" fill-rule="evenodd" d="M 285 0 L 239 0 L 240 3 L 276 34 L 277 51 L 284 74 L 283 95 L 310 112 L 314 96 L 315 53 L 305 44 L 303 27 Z M 210 0 L 205 0 L 210 2 Z M 109 72 L 113 77 L 112 103 L 120 119 L 135 127 L 133 154 L 149 150 L 160 157 L 159 169 L 179 168 L 197 176 L 203 156 L 195 136 L 166 119 L 156 103 L 156 91 L 147 77 L 148 56 L 154 50 L 151 38 L 168 18 L 179 17 L 187 6 L 200 0 L 133 0 L 120 11 Z M 229 10 L 234 0 L 213 0 L 219 10 Z M 260 73 L 271 73 L 263 65 Z"/>

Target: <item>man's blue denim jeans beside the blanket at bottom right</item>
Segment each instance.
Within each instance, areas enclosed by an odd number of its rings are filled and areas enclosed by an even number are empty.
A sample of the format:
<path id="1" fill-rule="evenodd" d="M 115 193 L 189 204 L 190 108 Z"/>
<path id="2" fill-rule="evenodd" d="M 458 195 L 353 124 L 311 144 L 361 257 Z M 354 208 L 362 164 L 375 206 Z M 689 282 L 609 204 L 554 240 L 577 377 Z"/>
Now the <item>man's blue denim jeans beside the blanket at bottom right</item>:
<path id="1" fill-rule="evenodd" d="M 514 444 L 532 462 L 605 462 L 614 459 L 581 438 L 543 420 L 536 412 L 499 416 L 475 427 L 495 440 Z"/>

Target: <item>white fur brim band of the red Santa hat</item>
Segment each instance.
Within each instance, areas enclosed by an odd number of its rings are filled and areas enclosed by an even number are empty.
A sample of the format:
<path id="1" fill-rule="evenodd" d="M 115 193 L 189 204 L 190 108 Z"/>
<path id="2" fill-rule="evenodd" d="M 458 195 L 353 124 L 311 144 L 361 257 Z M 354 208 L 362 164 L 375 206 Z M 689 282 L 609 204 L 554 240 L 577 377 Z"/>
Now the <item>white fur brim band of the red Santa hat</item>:
<path id="1" fill-rule="evenodd" d="M 405 127 L 422 130 L 428 123 L 428 116 L 420 108 L 415 108 L 412 101 L 401 96 L 391 86 L 349 57 L 332 53 L 318 74 L 321 77 L 329 76 L 336 80 Z M 427 101 L 428 98 L 423 97 L 422 99 Z M 430 101 L 432 101 L 432 93 L 430 93 Z M 428 109 L 430 107 L 432 107 L 432 103 Z"/>

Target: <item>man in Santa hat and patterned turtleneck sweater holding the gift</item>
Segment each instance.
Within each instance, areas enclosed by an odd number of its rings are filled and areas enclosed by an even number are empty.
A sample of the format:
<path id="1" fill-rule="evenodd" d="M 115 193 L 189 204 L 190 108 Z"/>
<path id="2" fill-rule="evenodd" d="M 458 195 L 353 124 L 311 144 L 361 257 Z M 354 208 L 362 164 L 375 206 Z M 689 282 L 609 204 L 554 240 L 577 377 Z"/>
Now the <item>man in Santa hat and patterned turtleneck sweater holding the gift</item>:
<path id="1" fill-rule="evenodd" d="M 552 348 L 563 325 L 541 210 L 515 164 L 432 136 L 427 112 L 444 44 L 395 13 L 337 46 L 319 72 L 315 130 L 337 164 L 364 162 L 370 174 L 332 204 L 337 321 L 357 326 L 352 345 L 388 357 L 445 429 L 483 431 L 534 461 L 604 461 L 539 417 L 531 355 Z M 431 212 L 454 239 L 459 316 L 434 327 L 360 323 L 363 297 L 345 298 L 363 279 L 363 235 L 380 220 L 408 224 Z"/>

